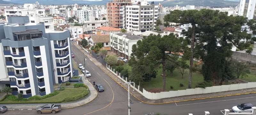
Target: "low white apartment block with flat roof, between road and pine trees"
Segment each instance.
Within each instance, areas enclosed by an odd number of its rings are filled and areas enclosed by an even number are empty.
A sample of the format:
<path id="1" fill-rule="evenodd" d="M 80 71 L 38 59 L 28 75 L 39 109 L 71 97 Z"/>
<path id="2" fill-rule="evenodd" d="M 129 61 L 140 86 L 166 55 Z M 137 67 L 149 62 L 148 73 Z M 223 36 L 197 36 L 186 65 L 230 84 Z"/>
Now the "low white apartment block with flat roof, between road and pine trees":
<path id="1" fill-rule="evenodd" d="M 142 36 L 134 35 L 132 33 L 110 33 L 110 50 L 121 57 L 130 59 L 132 45 L 136 44 L 137 41 L 142 40 L 142 38 Z"/>

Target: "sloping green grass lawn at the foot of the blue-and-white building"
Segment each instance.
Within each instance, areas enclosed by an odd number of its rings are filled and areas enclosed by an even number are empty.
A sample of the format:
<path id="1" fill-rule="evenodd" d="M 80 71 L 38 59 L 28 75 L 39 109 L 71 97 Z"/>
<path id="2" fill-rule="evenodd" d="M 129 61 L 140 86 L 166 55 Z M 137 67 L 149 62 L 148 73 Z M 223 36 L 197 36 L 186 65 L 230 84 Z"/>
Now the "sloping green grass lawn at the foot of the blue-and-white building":
<path id="1" fill-rule="evenodd" d="M 72 97 L 81 94 L 82 92 L 86 91 L 88 94 L 88 88 L 80 87 L 80 88 L 68 88 L 65 87 L 64 90 L 60 91 L 60 93 L 56 96 L 52 96 L 49 98 L 45 98 L 42 100 L 29 100 L 24 102 L 13 102 L 8 99 L 5 99 L 4 101 L 1 101 L 0 104 L 7 104 L 7 103 L 67 103 L 65 101 L 62 101 L 66 97 Z"/>

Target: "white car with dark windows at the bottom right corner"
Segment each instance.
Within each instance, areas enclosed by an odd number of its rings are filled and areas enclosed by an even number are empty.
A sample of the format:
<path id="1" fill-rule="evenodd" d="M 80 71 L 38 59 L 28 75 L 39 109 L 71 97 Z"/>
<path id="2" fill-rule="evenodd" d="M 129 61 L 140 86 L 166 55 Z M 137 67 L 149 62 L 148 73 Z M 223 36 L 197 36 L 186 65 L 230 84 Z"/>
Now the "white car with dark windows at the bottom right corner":
<path id="1" fill-rule="evenodd" d="M 232 111 L 234 112 L 252 112 L 253 105 L 250 103 L 238 104 L 232 107 Z"/>

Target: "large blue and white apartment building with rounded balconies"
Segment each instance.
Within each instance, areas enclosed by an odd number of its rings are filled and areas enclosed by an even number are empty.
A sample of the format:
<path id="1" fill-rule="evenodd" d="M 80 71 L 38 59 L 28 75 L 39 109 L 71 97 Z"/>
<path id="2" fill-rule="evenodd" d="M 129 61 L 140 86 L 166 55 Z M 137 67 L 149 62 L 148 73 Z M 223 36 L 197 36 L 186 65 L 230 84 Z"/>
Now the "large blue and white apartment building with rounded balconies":
<path id="1" fill-rule="evenodd" d="M 13 95 L 46 95 L 54 85 L 72 77 L 69 31 L 45 31 L 44 22 L 29 23 L 26 16 L 8 17 L 0 24 L 0 47 Z M 1 73 L 2 74 L 2 73 Z"/>

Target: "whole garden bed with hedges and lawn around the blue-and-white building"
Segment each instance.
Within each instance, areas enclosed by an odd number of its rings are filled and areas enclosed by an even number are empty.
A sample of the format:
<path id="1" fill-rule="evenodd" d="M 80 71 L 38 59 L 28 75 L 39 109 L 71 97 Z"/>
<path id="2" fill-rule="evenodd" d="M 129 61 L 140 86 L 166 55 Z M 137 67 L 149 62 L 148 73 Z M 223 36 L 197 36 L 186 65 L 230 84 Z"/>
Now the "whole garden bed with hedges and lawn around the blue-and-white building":
<path id="1" fill-rule="evenodd" d="M 66 84 L 65 84 L 66 86 Z M 32 96 L 22 98 L 14 95 L 6 95 L 1 99 L 0 104 L 35 104 L 35 103 L 67 103 L 84 98 L 88 95 L 88 87 L 81 83 L 70 83 L 71 87 L 60 87 L 60 90 L 55 90 L 51 94 L 45 96 Z"/>

